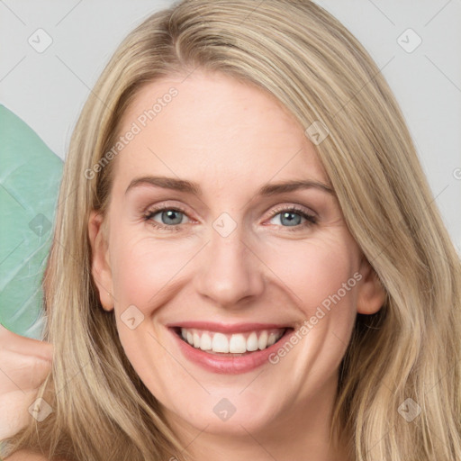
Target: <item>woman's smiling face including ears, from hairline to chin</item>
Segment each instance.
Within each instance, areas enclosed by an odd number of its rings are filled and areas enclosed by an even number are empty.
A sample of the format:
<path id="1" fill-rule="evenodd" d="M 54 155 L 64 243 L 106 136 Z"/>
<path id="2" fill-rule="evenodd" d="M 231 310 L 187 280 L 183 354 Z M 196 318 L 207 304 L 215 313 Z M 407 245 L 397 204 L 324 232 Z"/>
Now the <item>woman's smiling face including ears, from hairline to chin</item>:
<path id="1" fill-rule="evenodd" d="M 231 77 L 183 78 L 124 114 L 106 244 L 89 225 L 101 302 L 173 423 L 324 424 L 357 311 L 382 294 L 293 116 Z"/>

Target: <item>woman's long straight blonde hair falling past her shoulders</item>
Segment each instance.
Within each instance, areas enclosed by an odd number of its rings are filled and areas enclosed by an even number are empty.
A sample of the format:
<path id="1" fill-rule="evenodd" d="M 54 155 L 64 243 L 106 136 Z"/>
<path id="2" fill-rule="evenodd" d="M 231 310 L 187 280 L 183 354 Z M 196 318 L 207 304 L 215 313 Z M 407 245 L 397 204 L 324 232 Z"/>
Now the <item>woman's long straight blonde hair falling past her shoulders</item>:
<path id="1" fill-rule="evenodd" d="M 9 452 L 182 459 L 91 276 L 89 212 L 105 212 L 114 162 L 93 179 L 85 172 L 113 146 L 141 86 L 195 68 L 251 82 L 306 129 L 316 122 L 330 131 L 315 147 L 386 293 L 379 312 L 357 316 L 332 432 L 348 439 L 357 461 L 461 459 L 459 257 L 384 77 L 352 34 L 308 0 L 185 0 L 151 15 L 115 51 L 72 135 L 44 279 L 55 357 L 40 395 L 54 412 L 31 419 Z M 412 421 L 402 416 L 409 402 L 420 407 Z"/>

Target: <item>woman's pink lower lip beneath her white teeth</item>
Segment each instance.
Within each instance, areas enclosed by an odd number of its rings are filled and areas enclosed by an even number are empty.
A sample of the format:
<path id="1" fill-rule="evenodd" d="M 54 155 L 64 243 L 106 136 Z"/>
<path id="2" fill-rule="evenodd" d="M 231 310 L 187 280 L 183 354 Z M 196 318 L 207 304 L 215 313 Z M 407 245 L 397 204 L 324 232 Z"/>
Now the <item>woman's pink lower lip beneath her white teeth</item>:
<path id="1" fill-rule="evenodd" d="M 268 357 L 276 352 L 280 348 L 281 343 L 285 342 L 285 339 L 294 332 L 293 329 L 285 331 L 284 336 L 279 339 L 272 346 L 250 352 L 242 356 L 234 355 L 226 357 L 224 355 L 214 355 L 204 352 L 202 349 L 192 347 L 189 343 L 179 338 L 176 331 L 168 329 L 176 339 L 179 349 L 184 354 L 185 358 L 194 362 L 198 366 L 202 366 L 205 370 L 212 371 L 213 373 L 219 373 L 222 375 L 238 375 L 240 373 L 247 373 L 252 371 L 258 366 L 263 366 L 265 363 L 269 363 Z"/>

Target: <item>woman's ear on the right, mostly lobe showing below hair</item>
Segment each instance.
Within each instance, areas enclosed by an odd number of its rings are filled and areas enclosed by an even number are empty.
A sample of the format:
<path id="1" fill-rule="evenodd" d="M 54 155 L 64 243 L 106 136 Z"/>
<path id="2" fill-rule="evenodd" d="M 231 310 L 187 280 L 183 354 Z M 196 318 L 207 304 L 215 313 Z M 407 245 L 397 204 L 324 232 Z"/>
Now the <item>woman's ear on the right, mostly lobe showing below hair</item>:
<path id="1" fill-rule="evenodd" d="M 384 286 L 365 256 L 362 257 L 359 273 L 362 275 L 357 295 L 357 312 L 372 314 L 378 312 L 385 302 Z"/>

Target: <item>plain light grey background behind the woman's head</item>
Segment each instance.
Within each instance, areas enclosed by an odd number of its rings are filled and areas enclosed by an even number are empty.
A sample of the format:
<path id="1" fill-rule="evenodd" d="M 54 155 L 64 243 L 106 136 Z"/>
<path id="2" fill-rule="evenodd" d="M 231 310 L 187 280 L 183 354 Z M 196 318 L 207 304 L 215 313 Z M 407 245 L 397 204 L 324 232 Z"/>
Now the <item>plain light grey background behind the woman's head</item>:
<path id="1" fill-rule="evenodd" d="M 461 0 L 316 3 L 344 23 L 382 69 L 461 252 Z M 113 50 L 145 17 L 171 4 L 0 0 L 0 103 L 64 158 L 77 115 Z M 52 43 L 42 52 L 30 44 L 43 46 L 47 36 Z"/>

